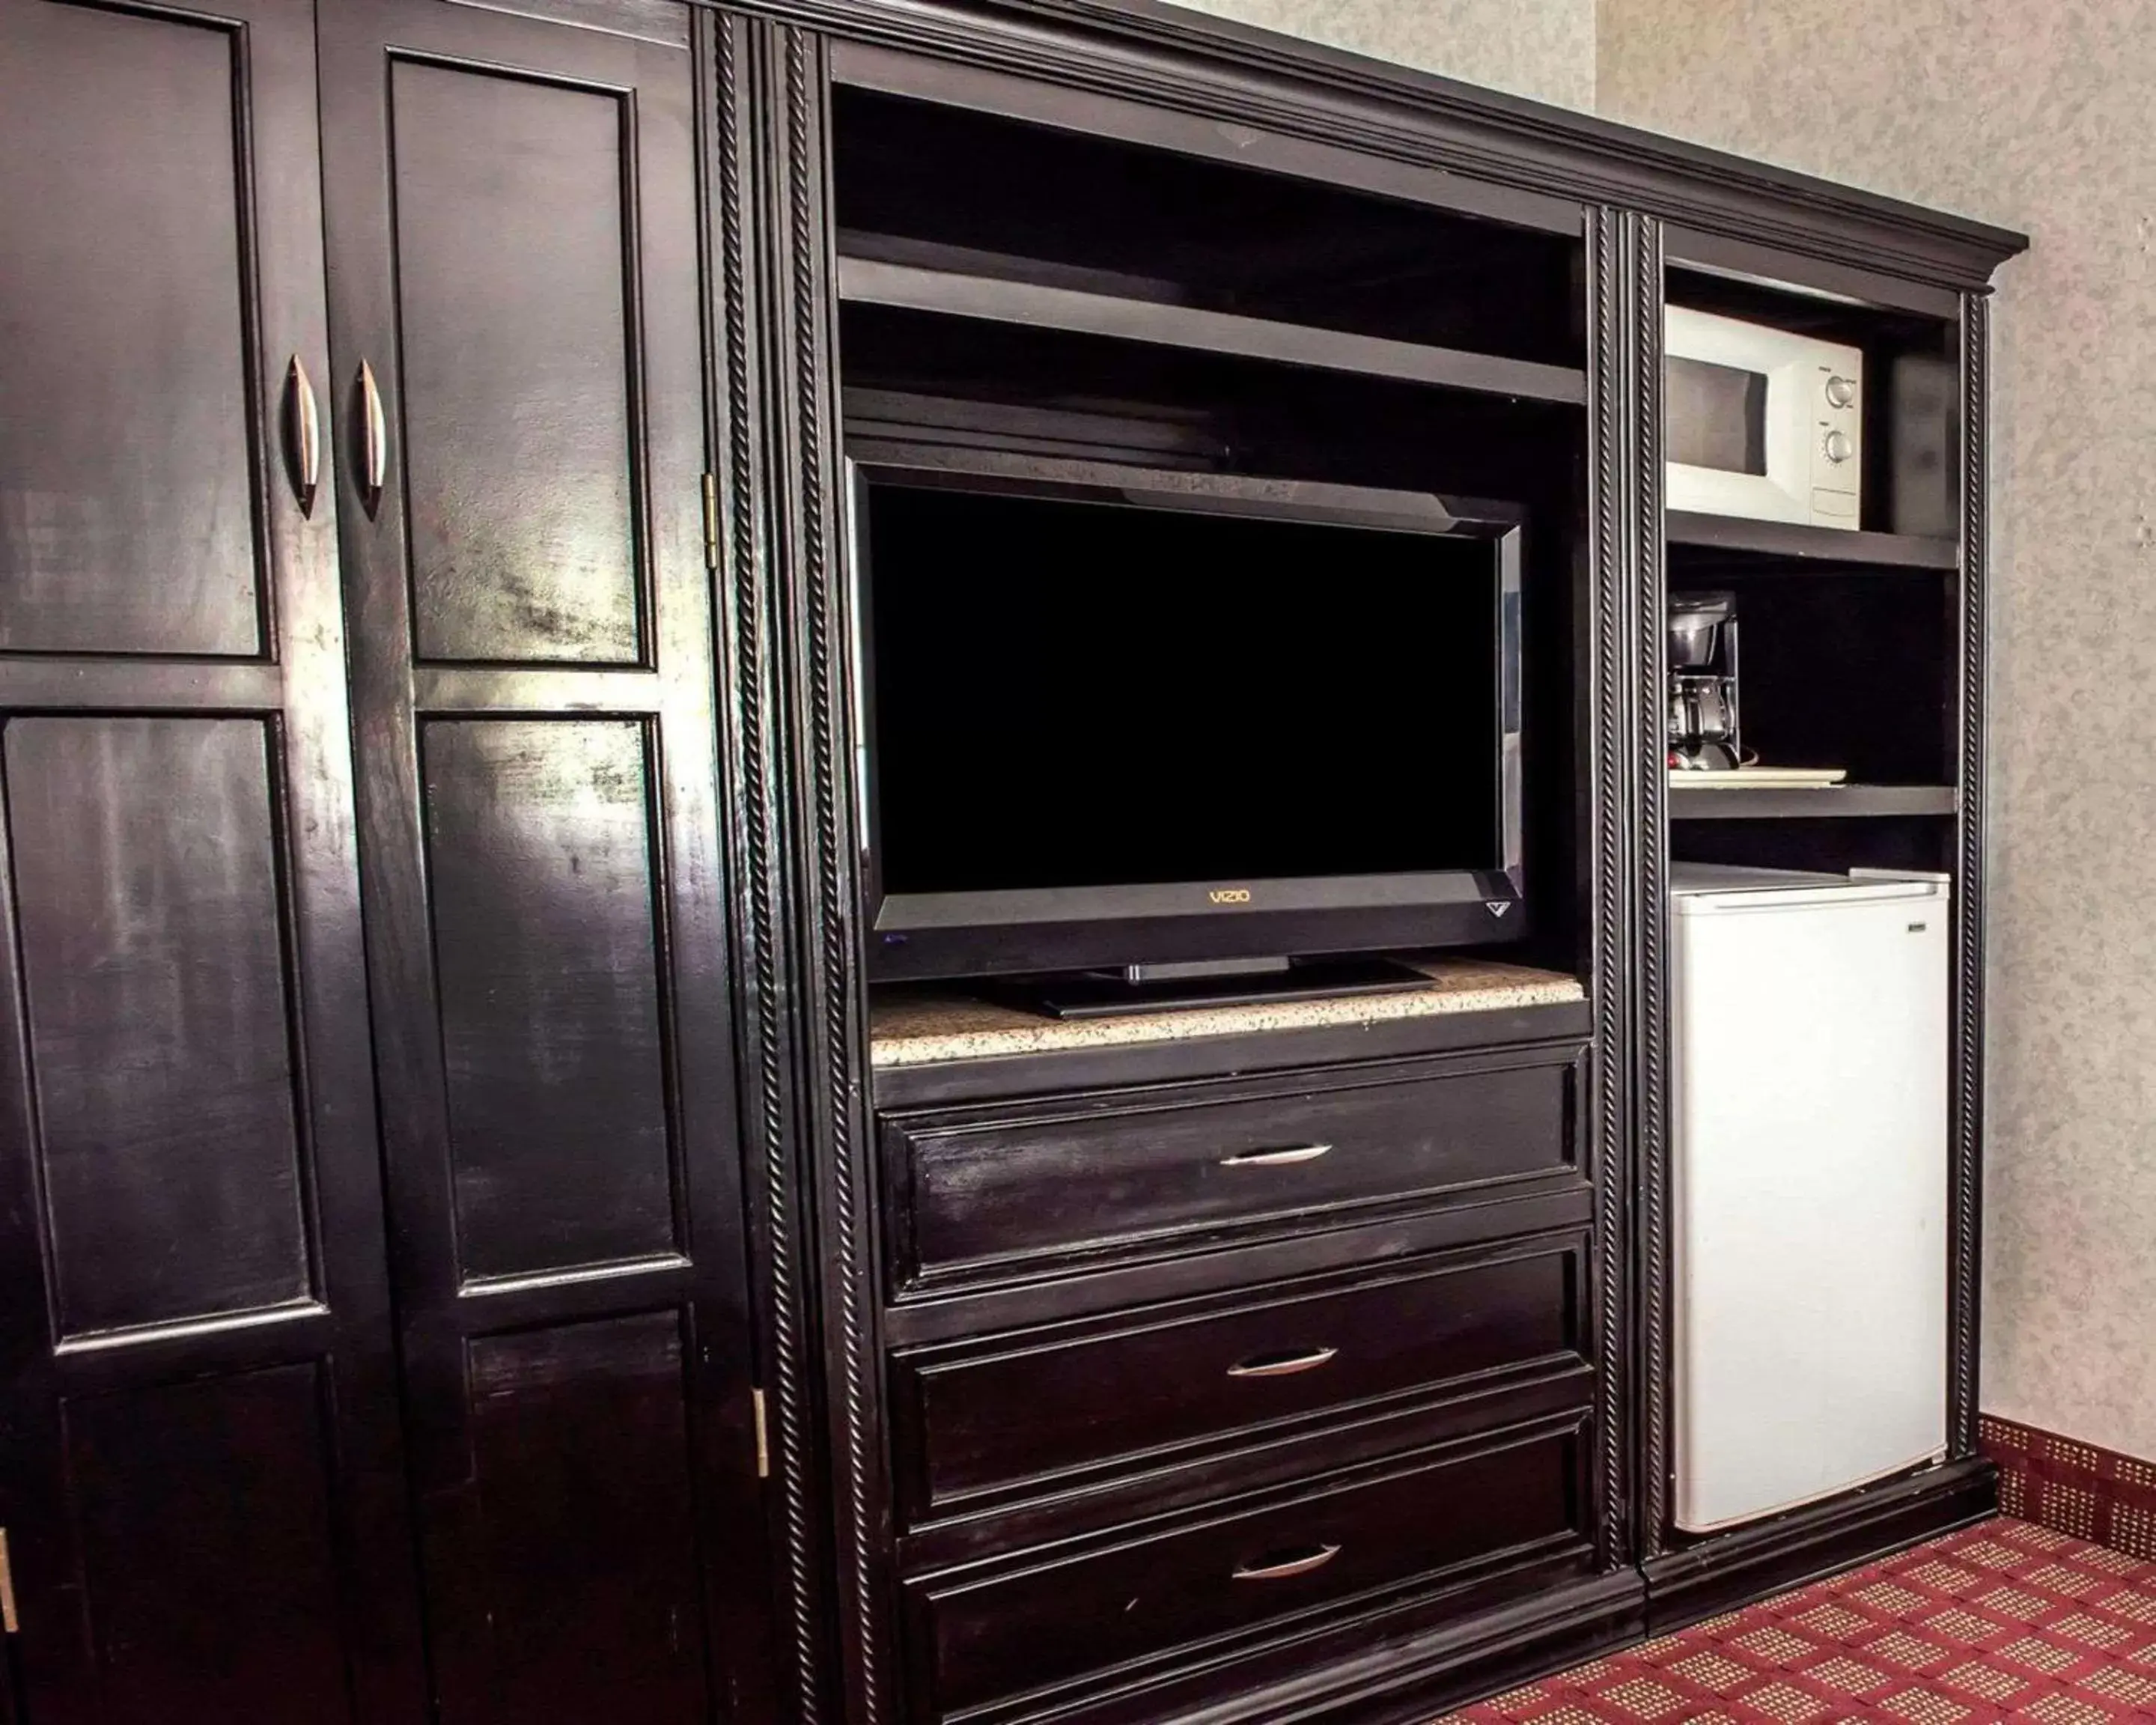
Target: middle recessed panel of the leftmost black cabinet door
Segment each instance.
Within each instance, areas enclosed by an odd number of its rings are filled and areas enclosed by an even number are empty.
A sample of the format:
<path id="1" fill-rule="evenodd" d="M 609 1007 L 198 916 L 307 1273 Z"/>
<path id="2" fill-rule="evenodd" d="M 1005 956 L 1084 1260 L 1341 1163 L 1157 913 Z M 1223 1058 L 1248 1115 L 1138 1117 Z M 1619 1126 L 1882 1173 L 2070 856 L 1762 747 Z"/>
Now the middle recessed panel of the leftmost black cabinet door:
<path id="1" fill-rule="evenodd" d="M 265 744 L 248 718 L 6 727 L 63 1339 L 315 1292 Z"/>

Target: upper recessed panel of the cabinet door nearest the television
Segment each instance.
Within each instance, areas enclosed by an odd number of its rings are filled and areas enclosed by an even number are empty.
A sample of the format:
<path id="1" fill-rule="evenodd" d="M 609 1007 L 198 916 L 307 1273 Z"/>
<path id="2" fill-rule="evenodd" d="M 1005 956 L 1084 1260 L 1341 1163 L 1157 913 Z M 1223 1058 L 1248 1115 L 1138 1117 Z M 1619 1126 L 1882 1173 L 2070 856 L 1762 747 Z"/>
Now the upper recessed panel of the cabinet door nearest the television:
<path id="1" fill-rule="evenodd" d="M 621 91 L 390 60 L 425 660 L 640 658 L 632 121 Z"/>

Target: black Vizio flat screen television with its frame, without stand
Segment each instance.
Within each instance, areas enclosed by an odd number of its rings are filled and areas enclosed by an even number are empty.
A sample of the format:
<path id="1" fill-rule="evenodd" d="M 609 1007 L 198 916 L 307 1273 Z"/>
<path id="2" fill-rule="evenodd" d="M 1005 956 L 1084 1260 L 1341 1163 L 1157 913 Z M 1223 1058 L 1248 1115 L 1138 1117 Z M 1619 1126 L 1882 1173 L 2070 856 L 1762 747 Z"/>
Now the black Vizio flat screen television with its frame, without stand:
<path id="1" fill-rule="evenodd" d="M 858 451 L 873 977 L 1516 938 L 1520 511 Z"/>

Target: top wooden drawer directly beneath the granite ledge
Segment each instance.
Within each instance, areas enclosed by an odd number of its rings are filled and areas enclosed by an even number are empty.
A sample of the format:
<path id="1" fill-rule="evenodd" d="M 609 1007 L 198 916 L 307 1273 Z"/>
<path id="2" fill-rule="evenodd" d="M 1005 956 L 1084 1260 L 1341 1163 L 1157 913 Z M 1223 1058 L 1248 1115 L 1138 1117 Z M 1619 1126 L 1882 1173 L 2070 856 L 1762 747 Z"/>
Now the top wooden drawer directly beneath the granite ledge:
<path id="1" fill-rule="evenodd" d="M 899 1289 L 1576 1167 L 1576 1046 L 886 1115 Z"/>

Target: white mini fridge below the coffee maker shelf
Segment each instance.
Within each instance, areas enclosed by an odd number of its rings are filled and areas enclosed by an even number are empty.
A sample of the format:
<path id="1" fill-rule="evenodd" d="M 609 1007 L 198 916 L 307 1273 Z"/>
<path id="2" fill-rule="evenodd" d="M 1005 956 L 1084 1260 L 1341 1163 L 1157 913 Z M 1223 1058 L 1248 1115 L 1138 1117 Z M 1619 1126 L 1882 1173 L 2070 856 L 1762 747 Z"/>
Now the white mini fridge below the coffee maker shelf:
<path id="1" fill-rule="evenodd" d="M 1947 1447 L 1947 882 L 1673 869 L 1675 1522 Z"/>

